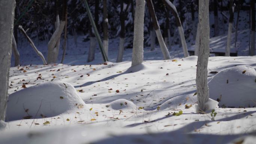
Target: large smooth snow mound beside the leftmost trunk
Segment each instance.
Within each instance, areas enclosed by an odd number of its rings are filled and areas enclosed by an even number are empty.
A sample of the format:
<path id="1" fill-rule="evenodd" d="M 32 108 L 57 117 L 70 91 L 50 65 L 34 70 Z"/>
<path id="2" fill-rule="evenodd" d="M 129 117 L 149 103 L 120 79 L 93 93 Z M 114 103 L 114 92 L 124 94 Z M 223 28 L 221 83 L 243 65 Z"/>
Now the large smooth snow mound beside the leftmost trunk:
<path id="1" fill-rule="evenodd" d="M 70 83 L 43 83 L 9 95 L 6 121 L 52 117 L 84 106 Z"/>

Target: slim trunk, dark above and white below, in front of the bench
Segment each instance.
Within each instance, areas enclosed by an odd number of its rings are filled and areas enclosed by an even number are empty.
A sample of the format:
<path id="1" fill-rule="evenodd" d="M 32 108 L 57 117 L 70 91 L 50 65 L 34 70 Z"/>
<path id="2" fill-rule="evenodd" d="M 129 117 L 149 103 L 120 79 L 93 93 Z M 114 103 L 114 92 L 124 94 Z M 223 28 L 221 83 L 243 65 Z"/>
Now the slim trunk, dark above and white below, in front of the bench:
<path id="1" fill-rule="evenodd" d="M 234 21 L 234 6 L 233 6 L 233 0 L 230 0 L 229 1 L 228 38 L 227 38 L 227 46 L 226 46 L 225 56 L 230 56 L 230 43 L 231 43 L 233 21 Z"/>

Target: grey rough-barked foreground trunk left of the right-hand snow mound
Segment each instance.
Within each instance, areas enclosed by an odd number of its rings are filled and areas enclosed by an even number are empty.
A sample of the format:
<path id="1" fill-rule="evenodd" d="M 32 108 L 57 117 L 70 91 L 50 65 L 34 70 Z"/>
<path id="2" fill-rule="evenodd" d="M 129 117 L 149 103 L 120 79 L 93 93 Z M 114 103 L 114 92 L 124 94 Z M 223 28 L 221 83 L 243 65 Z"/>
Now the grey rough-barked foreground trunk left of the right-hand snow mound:
<path id="1" fill-rule="evenodd" d="M 209 99 L 209 89 L 207 85 L 207 65 L 210 55 L 209 39 L 209 0 L 199 0 L 199 52 L 196 67 L 196 90 L 198 98 L 197 111 L 208 110 L 205 104 Z"/>

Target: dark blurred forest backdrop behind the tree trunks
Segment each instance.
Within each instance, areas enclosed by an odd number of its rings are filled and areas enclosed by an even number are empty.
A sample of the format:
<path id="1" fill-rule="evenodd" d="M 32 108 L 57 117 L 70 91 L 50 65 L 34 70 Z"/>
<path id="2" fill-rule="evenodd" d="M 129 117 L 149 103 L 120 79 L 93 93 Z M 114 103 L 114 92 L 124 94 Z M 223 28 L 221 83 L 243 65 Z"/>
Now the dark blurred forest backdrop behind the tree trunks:
<path id="1" fill-rule="evenodd" d="M 54 33 L 55 27 L 55 15 L 56 15 L 56 7 L 58 7 L 58 13 L 62 13 L 63 1 L 59 0 L 56 3 L 56 0 L 34 0 L 32 5 L 28 8 L 28 11 L 25 15 L 17 21 L 22 12 L 25 11 L 25 8 L 28 6 L 31 0 L 16 0 L 16 8 L 15 8 L 15 22 L 17 24 L 14 28 L 15 39 L 18 41 L 17 36 L 19 33 L 17 28 L 18 25 L 22 25 L 25 30 L 29 28 L 27 33 L 33 39 L 38 40 L 47 40 L 51 38 Z M 98 11 L 98 31 L 103 38 L 103 0 L 99 0 L 99 10 L 95 10 L 95 2 L 97 0 L 88 0 L 92 15 L 95 17 L 95 12 Z M 122 1 L 124 2 L 124 6 L 122 6 Z M 196 26 L 197 26 L 197 17 L 198 17 L 198 0 L 171 0 L 173 4 L 176 6 L 177 11 L 180 16 L 180 21 L 182 22 L 182 26 L 185 33 L 186 42 L 190 42 L 191 40 L 195 40 L 196 34 Z M 217 1 L 217 2 L 216 2 Z M 153 6 L 155 7 L 155 13 L 158 18 L 159 26 L 162 31 L 162 34 L 168 35 L 166 30 L 170 28 L 171 36 L 176 36 L 178 34 L 175 18 L 174 16 L 166 9 L 161 0 L 152 0 Z M 214 3 L 215 2 L 215 3 Z M 56 3 L 56 4 L 55 4 Z M 234 3 L 238 4 L 238 0 L 235 0 Z M 250 10 L 250 1 L 249 0 L 240 0 L 239 1 L 239 10 Z M 216 6 L 217 5 L 217 6 Z M 128 8 L 126 8 L 129 6 Z M 89 30 L 91 28 L 88 15 L 85 10 L 85 5 L 83 0 L 68 0 L 68 14 L 67 14 L 67 33 L 68 35 L 76 36 L 77 34 L 84 35 L 85 41 L 89 40 Z M 109 39 L 119 37 L 124 34 L 121 31 L 121 21 L 120 21 L 120 13 L 121 7 L 124 7 L 127 10 L 125 13 L 125 37 L 126 42 L 132 42 L 133 36 L 133 18 L 134 18 L 134 9 L 135 9 L 135 0 L 107 0 L 107 17 L 108 17 L 108 36 Z M 209 10 L 210 12 L 214 12 L 216 10 L 219 13 L 219 21 L 222 21 L 221 12 L 225 11 L 228 16 L 229 11 L 229 0 L 210 0 Z M 235 13 L 238 11 L 238 6 L 235 7 Z M 60 19 L 62 19 L 60 14 Z M 167 17 L 169 16 L 169 18 Z M 167 19 L 168 18 L 168 19 Z M 193 21 L 196 21 L 195 23 Z M 211 21 L 211 19 L 210 19 Z M 243 21 L 243 19 L 241 19 Z M 166 24 L 168 22 L 168 24 Z M 223 22 L 228 23 L 228 19 L 224 18 Z M 248 22 L 245 22 L 248 23 Z M 219 24 L 220 29 L 222 28 Z M 214 31 L 214 23 L 210 25 L 212 31 Z M 248 27 L 249 28 L 249 27 Z M 149 38 L 150 30 L 152 30 L 152 24 L 150 22 L 150 15 L 148 11 L 148 7 L 145 7 L 145 16 L 144 16 L 144 38 L 145 44 L 150 45 L 150 42 L 147 41 Z M 164 32 L 165 30 L 165 32 Z M 226 28 L 227 30 L 227 28 Z M 222 33 L 219 33 L 222 34 Z M 214 36 L 211 35 L 211 36 Z M 156 41 L 157 42 L 157 41 Z M 173 42 L 178 44 L 179 37 L 176 36 L 173 39 Z M 128 44 L 127 48 L 131 48 L 132 44 Z"/>

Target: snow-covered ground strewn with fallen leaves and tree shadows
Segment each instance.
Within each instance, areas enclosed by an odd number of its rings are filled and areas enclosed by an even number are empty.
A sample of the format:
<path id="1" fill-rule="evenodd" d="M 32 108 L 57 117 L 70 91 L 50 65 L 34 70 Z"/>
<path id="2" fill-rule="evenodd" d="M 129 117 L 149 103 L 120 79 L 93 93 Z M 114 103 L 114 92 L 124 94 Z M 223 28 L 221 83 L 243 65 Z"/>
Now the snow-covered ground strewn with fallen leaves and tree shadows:
<path id="1" fill-rule="evenodd" d="M 195 111 L 196 56 L 183 58 L 182 48 L 174 46 L 172 59 L 161 60 L 159 48 L 145 48 L 146 61 L 131 68 L 131 49 L 124 62 L 115 63 L 114 39 L 111 62 L 103 64 L 98 51 L 86 64 L 89 43 L 78 38 L 77 48 L 70 39 L 64 65 L 42 65 L 33 51 L 20 52 L 23 65 L 10 68 L 10 121 L 0 131 L 0 144 L 256 143 L 256 56 L 209 58 L 210 98 L 217 100 L 216 89 L 230 92 L 220 93 L 226 107 L 219 105 L 214 117 Z M 247 38 L 240 39 L 238 55 L 247 55 Z M 213 43 L 225 45 L 225 37 Z M 39 49 L 46 56 L 46 46 Z M 250 101 L 250 107 L 238 108 L 234 101 Z"/>

